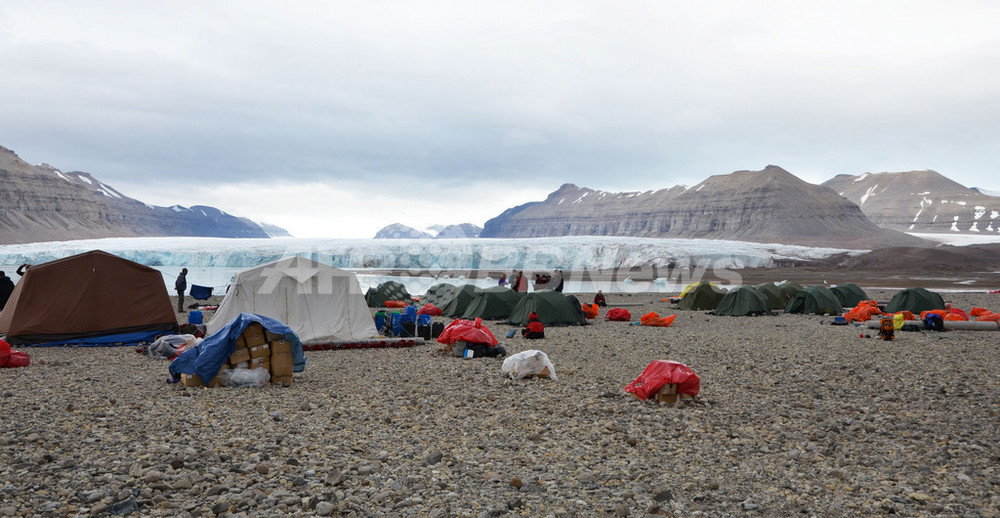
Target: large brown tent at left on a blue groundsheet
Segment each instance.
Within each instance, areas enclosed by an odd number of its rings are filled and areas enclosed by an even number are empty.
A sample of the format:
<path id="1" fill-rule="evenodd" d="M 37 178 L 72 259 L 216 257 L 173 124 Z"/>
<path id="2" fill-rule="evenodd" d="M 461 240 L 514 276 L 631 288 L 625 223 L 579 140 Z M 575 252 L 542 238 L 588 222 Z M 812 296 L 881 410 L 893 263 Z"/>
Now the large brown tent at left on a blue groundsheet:
<path id="1" fill-rule="evenodd" d="M 160 272 L 101 250 L 28 268 L 0 312 L 10 343 L 176 328 Z"/>

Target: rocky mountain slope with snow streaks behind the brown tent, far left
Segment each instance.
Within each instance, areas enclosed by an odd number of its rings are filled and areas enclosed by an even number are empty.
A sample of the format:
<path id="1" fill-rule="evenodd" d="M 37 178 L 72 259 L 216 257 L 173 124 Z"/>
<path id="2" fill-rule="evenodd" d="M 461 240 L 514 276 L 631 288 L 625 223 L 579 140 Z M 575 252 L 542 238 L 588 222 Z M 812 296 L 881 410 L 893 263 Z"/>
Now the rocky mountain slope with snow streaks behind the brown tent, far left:
<path id="1" fill-rule="evenodd" d="M 268 234 L 213 207 L 147 205 L 87 173 L 32 166 L 0 147 L 0 243 L 139 236 Z"/>

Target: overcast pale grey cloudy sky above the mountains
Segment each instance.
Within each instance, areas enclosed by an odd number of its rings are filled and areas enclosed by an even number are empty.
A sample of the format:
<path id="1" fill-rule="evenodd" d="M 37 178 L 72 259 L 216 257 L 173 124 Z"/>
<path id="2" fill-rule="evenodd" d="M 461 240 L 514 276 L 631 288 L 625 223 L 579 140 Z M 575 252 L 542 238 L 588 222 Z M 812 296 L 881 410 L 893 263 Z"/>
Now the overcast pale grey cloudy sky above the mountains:
<path id="1" fill-rule="evenodd" d="M 301 237 L 779 165 L 1000 189 L 1000 2 L 4 0 L 0 145 Z"/>

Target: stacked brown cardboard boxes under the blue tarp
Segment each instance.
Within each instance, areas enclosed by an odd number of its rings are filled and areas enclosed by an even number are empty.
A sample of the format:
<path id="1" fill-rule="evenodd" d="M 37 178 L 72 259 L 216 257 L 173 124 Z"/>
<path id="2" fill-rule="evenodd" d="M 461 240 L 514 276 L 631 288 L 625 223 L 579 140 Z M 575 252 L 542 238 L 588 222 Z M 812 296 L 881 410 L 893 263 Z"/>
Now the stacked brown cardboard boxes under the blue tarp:
<path id="1" fill-rule="evenodd" d="M 271 374 L 272 384 L 288 386 L 292 383 L 293 365 L 292 343 L 284 335 L 267 331 L 258 322 L 253 322 L 236 339 L 236 349 L 222 369 L 264 368 Z M 181 381 L 188 387 L 204 385 L 197 374 L 184 374 Z M 208 384 L 209 387 L 221 385 L 218 375 Z"/>

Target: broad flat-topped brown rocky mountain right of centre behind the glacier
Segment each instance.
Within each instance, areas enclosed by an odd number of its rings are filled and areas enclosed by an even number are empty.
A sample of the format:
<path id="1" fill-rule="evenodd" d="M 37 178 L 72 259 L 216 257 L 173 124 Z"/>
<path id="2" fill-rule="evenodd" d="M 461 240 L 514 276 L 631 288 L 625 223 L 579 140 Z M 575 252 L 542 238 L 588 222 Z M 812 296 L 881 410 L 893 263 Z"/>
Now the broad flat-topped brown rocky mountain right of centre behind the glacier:
<path id="1" fill-rule="evenodd" d="M 565 184 L 545 201 L 504 211 L 482 237 L 612 235 L 733 239 L 843 248 L 925 246 L 878 227 L 833 190 L 788 171 L 716 175 L 694 187 L 611 193 Z"/>

